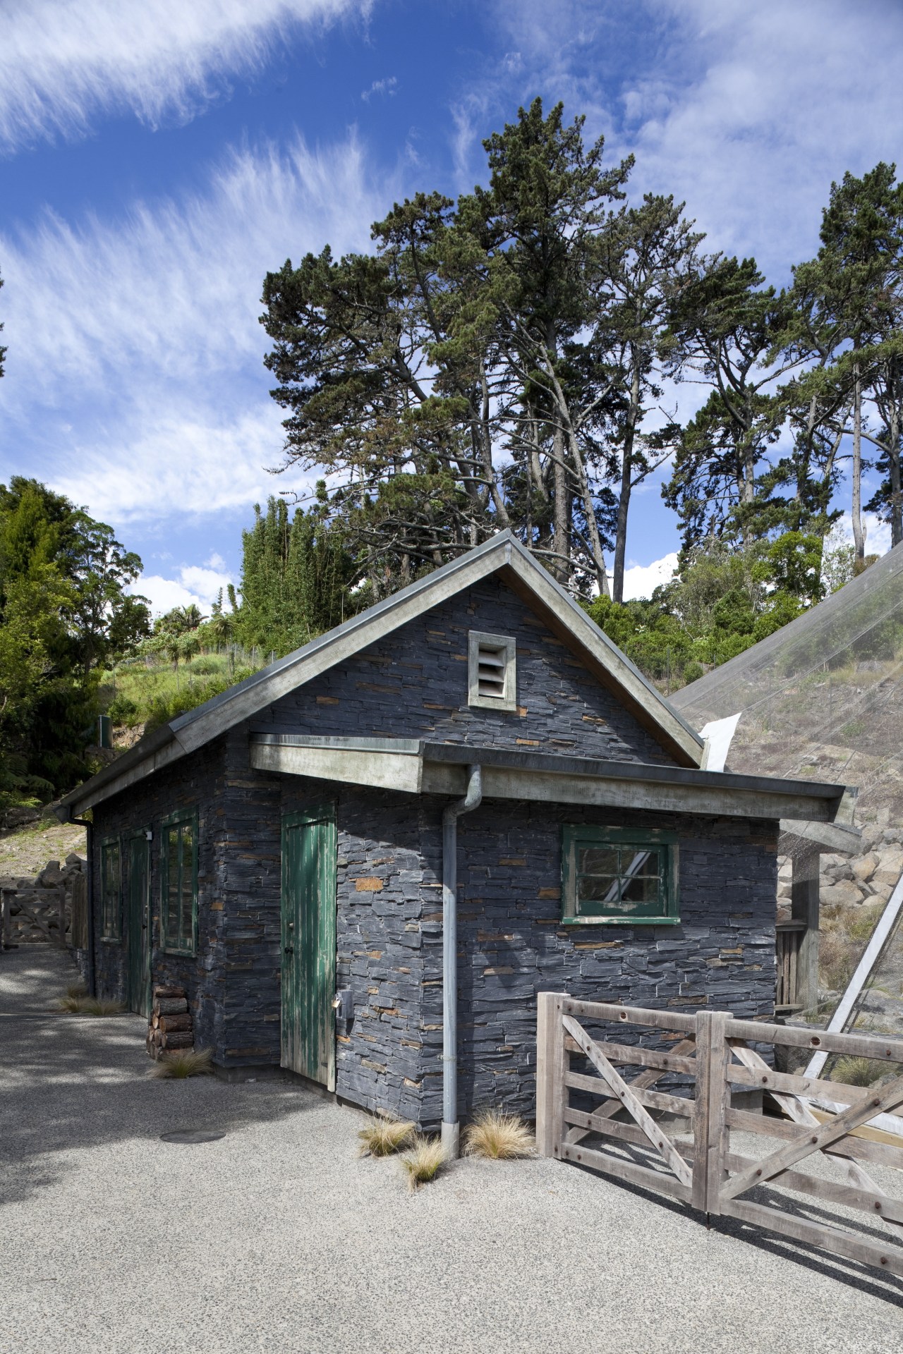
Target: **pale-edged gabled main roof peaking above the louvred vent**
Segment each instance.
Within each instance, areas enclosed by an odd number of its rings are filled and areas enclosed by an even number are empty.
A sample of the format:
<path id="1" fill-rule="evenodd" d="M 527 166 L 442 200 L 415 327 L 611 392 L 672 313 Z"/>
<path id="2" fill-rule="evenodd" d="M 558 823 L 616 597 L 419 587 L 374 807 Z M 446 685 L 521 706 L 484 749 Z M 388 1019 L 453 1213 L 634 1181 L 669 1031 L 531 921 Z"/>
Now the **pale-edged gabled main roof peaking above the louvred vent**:
<path id="1" fill-rule="evenodd" d="M 85 781 L 61 804 L 66 814 L 118 793 L 135 780 L 210 742 L 329 668 L 422 616 L 456 593 L 498 575 L 607 686 L 681 766 L 699 766 L 703 741 L 650 681 L 608 639 L 574 598 L 510 531 L 467 551 L 401 592 L 368 607 L 213 700 L 141 739 L 129 753 Z"/>

